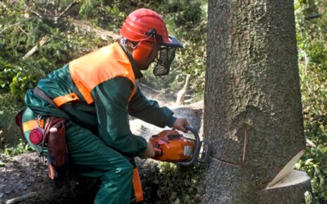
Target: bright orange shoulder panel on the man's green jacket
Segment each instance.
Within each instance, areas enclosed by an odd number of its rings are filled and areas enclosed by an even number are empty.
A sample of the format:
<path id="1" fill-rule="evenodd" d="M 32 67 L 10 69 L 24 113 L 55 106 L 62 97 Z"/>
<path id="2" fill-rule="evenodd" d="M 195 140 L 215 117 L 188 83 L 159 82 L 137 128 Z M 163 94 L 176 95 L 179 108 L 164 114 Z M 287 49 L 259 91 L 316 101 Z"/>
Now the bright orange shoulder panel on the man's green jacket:
<path id="1" fill-rule="evenodd" d="M 71 61 L 69 72 L 87 104 L 93 102 L 91 91 L 94 87 L 115 77 L 130 79 L 134 84 L 130 98 L 135 94 L 135 75 L 132 65 L 118 42 Z"/>

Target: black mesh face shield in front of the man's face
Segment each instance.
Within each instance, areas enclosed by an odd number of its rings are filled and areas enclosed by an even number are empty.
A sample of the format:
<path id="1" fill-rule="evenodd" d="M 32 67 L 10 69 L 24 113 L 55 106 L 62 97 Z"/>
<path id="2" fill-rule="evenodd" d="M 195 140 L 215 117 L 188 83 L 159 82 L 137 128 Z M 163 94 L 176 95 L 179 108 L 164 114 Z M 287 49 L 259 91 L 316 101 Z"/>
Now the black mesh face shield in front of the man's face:
<path id="1" fill-rule="evenodd" d="M 168 75 L 171 68 L 171 63 L 175 58 L 176 47 L 161 47 L 159 58 L 156 60 L 153 73 L 156 76 Z"/>

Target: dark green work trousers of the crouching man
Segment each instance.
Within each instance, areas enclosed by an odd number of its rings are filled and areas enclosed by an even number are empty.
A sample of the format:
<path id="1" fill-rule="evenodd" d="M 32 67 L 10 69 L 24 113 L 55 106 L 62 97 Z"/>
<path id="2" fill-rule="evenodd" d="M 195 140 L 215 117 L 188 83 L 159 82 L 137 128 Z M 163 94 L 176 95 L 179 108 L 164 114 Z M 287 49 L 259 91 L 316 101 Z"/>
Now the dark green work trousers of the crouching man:
<path id="1" fill-rule="evenodd" d="M 36 118 L 32 110 L 25 110 L 23 122 Z M 30 143 L 29 133 L 25 132 L 25 138 Z M 133 167 L 127 158 L 106 146 L 101 136 L 73 121 L 66 122 L 66 141 L 74 170 L 85 177 L 101 180 L 94 203 L 130 203 Z M 41 150 L 39 146 L 32 147 Z"/>

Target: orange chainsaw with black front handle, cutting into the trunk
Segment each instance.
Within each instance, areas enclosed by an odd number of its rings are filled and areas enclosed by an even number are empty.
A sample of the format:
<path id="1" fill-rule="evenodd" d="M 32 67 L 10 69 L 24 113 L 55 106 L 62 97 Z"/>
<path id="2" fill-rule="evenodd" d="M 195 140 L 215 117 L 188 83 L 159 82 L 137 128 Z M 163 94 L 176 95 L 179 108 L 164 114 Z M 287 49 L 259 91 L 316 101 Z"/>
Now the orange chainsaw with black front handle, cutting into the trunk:
<path id="1" fill-rule="evenodd" d="M 174 162 L 177 165 L 189 166 L 195 162 L 208 162 L 210 145 L 206 141 L 200 141 L 199 134 L 190 126 L 195 139 L 187 138 L 179 132 L 166 129 L 159 134 L 152 135 L 149 143 L 154 148 L 154 160 Z M 201 151 L 201 153 L 200 153 Z"/>

